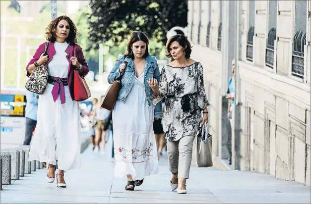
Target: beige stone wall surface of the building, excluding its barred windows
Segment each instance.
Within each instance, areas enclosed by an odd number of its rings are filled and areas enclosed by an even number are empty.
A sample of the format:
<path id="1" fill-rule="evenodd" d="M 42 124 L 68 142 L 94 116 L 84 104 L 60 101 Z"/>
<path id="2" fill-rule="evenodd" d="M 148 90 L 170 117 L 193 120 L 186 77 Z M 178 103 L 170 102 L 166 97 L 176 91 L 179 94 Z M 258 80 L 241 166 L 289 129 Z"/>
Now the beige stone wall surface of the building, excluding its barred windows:
<path id="1" fill-rule="evenodd" d="M 191 1 L 189 1 L 190 4 Z M 250 170 L 274 175 L 277 178 L 294 180 L 310 186 L 311 171 L 311 20 L 307 22 L 307 46 L 305 49 L 304 79 L 291 76 L 292 43 L 295 33 L 295 2 L 278 0 L 277 34 L 274 49 L 273 68 L 265 66 L 266 41 L 268 34 L 267 0 L 255 1 L 255 32 L 253 37 L 253 61 L 246 59 L 247 34 L 249 29 L 249 1 L 239 2 L 240 14 L 240 60 L 236 62 L 240 73 L 242 109 L 240 116 L 241 138 L 239 157 L 240 170 Z M 196 1 L 193 1 L 195 6 Z M 208 1 L 204 3 L 208 5 Z M 227 5 L 227 4 L 226 4 Z M 227 5 L 228 6 L 228 5 Z M 190 8 L 190 7 L 189 7 Z M 226 6 L 224 6 L 225 9 Z M 197 10 L 197 9 L 196 9 Z M 209 8 L 207 8 L 207 11 Z M 204 67 L 206 94 L 211 103 L 209 107 L 209 129 L 213 135 L 215 159 L 221 158 L 222 148 L 222 97 L 228 80 L 228 47 L 217 50 L 219 26 L 219 1 L 211 2 L 211 40 L 210 48 L 192 41 L 191 58 L 200 61 Z M 308 2 L 308 10 L 311 3 Z M 192 12 L 189 9 L 189 12 Z M 195 11 L 196 12 L 196 11 Z M 208 12 L 201 11 L 201 19 L 207 18 Z M 224 12 L 223 12 L 224 13 Z M 226 14 L 223 14 L 224 42 L 229 42 Z M 308 13 L 307 13 L 308 14 Z M 195 15 L 193 15 L 195 16 Z M 199 15 L 196 15 L 199 16 Z M 191 19 L 192 20 L 192 19 Z M 189 21 L 189 19 L 188 19 Z M 191 21 L 189 21 L 191 22 Z M 188 22 L 188 23 L 189 23 Z M 208 21 L 207 21 L 208 22 Z M 189 32 L 190 27 L 188 27 Z M 203 33 L 203 32 L 204 33 Z M 192 35 L 196 35 L 196 30 Z M 227 32 L 227 33 L 226 33 Z M 201 29 L 201 39 L 206 38 Z M 205 39 L 206 41 L 206 39 Z M 219 163 L 219 162 L 217 162 Z"/>

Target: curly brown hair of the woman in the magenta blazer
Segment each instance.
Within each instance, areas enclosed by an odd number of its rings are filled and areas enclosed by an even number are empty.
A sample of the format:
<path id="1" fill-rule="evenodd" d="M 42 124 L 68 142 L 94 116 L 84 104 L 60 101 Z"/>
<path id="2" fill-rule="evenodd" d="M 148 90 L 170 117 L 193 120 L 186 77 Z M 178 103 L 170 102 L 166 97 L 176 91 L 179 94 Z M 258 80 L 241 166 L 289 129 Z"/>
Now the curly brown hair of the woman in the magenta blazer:
<path id="1" fill-rule="evenodd" d="M 51 21 L 51 23 L 48 25 L 48 27 L 46 28 L 46 39 L 47 41 L 50 42 L 55 42 L 56 41 L 56 29 L 57 29 L 57 25 L 59 24 L 59 22 L 61 20 L 66 20 L 69 24 L 69 35 L 66 39 L 67 43 L 74 45 L 77 43 L 77 38 L 78 38 L 78 31 L 77 28 L 75 27 L 74 23 L 72 22 L 72 20 L 66 16 L 66 15 L 62 15 L 59 16 L 57 18 L 55 18 L 54 20 Z"/>

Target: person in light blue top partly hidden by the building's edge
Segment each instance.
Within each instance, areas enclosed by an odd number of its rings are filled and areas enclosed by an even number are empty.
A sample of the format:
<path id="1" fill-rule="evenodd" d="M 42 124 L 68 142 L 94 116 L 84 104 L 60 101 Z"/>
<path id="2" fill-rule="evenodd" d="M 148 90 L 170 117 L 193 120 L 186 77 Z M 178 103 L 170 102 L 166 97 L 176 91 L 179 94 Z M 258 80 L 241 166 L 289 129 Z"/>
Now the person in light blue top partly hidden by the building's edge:
<path id="1" fill-rule="evenodd" d="M 232 60 L 232 76 L 229 77 L 229 81 L 228 81 L 228 113 L 227 113 L 227 117 L 230 121 L 230 125 L 231 125 L 231 130 L 234 130 L 233 125 L 233 121 L 232 121 L 232 110 L 234 108 L 234 97 L 235 97 L 235 91 L 234 91 L 234 83 L 235 83 L 235 60 Z M 231 165 L 232 163 L 232 134 L 229 133 L 228 134 L 228 141 L 227 141 L 227 148 L 229 151 L 229 165 Z"/>

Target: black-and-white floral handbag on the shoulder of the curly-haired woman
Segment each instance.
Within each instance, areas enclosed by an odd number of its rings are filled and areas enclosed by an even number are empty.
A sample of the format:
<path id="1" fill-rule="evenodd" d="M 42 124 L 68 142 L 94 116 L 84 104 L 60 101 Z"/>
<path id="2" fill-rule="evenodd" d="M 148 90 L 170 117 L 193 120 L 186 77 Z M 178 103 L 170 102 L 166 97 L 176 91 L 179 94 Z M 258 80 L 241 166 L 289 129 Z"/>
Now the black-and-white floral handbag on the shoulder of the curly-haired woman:
<path id="1" fill-rule="evenodd" d="M 49 43 L 44 44 L 44 55 L 47 55 Z M 26 82 L 26 89 L 35 94 L 42 95 L 48 84 L 48 67 L 42 64 L 36 67 Z"/>

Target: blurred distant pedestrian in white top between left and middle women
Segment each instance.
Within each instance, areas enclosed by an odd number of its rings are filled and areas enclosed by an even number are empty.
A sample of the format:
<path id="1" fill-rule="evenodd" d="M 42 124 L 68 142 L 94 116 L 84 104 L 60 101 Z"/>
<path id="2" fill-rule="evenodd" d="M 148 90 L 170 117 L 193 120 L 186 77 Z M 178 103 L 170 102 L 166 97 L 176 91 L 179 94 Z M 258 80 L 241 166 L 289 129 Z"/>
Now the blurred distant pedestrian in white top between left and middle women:
<path id="1" fill-rule="evenodd" d="M 103 148 L 101 150 L 101 154 L 105 153 L 105 145 L 106 145 L 106 134 L 107 130 L 104 131 L 104 126 L 106 119 L 108 118 L 110 114 L 110 110 L 107 110 L 105 108 L 101 107 L 101 102 L 103 101 L 104 96 L 101 96 L 100 102 L 97 103 L 94 109 L 94 115 L 93 115 L 93 120 L 96 119 L 95 122 L 95 150 L 94 152 L 99 152 L 100 147 L 99 143 L 102 141 Z"/>

